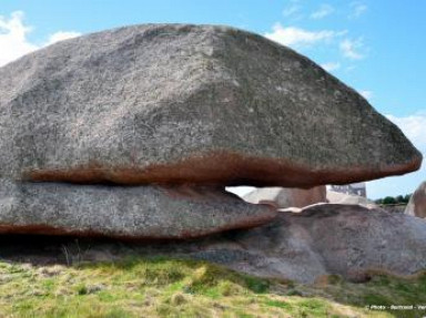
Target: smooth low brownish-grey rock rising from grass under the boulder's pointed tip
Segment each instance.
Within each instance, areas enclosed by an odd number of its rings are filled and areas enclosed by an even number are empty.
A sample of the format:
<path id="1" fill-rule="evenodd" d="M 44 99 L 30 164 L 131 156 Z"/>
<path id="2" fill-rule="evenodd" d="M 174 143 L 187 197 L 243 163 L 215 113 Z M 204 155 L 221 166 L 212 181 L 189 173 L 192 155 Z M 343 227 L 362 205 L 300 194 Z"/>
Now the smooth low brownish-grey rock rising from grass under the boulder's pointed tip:
<path id="1" fill-rule="evenodd" d="M 312 283 L 367 269 L 409 275 L 426 268 L 426 220 L 358 205 L 320 204 L 276 222 L 219 236 L 192 257 L 260 276 Z M 201 250 L 200 250 L 201 249 Z"/>

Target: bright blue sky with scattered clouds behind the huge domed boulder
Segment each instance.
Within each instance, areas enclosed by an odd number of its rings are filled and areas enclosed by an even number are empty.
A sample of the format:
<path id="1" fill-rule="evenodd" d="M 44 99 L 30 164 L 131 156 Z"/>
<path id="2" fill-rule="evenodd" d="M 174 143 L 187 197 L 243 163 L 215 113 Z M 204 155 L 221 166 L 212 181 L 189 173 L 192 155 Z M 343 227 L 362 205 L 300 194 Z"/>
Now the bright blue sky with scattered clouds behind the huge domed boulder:
<path id="1" fill-rule="evenodd" d="M 364 94 L 426 155 L 426 1 L 3 0 L 0 65 L 58 40 L 126 24 L 229 24 L 294 48 Z M 367 185 L 410 193 L 417 172 Z"/>

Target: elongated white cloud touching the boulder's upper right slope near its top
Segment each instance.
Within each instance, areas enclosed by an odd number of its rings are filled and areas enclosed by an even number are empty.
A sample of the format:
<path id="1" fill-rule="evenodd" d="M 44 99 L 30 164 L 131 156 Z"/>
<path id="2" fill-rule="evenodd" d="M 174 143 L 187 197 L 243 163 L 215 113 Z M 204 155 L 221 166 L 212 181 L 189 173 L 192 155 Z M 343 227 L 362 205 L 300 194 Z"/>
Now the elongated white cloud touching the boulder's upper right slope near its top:
<path id="1" fill-rule="evenodd" d="M 329 30 L 308 31 L 301 28 L 287 27 L 284 28 L 281 23 L 275 23 L 272 32 L 265 33 L 265 37 L 288 47 L 306 47 L 317 42 L 327 42 L 333 38 L 343 34 Z"/>

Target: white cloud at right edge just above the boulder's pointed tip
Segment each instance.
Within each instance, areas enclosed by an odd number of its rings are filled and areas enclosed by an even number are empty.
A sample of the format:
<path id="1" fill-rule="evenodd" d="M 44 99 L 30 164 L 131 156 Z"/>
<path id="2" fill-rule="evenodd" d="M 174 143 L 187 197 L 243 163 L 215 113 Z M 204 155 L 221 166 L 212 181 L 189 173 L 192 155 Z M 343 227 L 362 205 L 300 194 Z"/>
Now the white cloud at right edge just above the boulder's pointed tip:
<path id="1" fill-rule="evenodd" d="M 416 113 L 405 117 L 386 115 L 419 150 L 426 154 L 426 114 Z"/>

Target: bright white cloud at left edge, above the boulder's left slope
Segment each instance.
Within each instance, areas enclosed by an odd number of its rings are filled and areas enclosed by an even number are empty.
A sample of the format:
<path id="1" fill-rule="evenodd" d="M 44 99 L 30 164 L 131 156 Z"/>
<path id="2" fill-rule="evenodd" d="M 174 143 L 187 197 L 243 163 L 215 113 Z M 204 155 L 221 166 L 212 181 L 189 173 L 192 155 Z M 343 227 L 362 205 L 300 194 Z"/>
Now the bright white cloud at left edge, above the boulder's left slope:
<path id="1" fill-rule="evenodd" d="M 22 11 L 16 11 L 10 17 L 0 16 L 0 66 L 55 41 L 80 35 L 61 31 L 50 35 L 45 43 L 31 43 L 27 38 L 31 28 L 23 23 L 23 18 Z"/>

